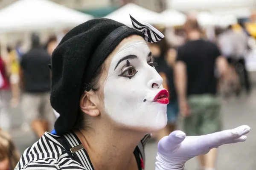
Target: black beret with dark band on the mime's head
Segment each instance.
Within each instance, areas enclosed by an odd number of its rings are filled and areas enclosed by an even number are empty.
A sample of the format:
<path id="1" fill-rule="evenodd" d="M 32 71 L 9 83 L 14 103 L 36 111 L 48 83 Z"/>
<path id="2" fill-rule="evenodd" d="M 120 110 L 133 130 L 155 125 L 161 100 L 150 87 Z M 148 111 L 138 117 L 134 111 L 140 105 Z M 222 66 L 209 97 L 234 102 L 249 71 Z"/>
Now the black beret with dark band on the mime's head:
<path id="1" fill-rule="evenodd" d="M 113 49 L 129 35 L 140 31 L 110 19 L 89 20 L 70 30 L 52 53 L 50 102 L 60 116 L 58 135 L 69 132 L 79 117 L 79 97 Z"/>

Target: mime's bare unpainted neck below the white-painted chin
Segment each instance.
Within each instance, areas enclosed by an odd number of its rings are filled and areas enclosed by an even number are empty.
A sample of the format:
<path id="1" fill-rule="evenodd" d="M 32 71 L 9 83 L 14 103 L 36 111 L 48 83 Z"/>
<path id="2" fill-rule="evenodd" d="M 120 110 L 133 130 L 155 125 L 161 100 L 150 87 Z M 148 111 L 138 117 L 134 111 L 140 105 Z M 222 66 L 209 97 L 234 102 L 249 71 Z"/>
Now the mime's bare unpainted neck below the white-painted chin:
<path id="1" fill-rule="evenodd" d="M 104 126 L 81 130 L 76 135 L 84 145 L 95 170 L 134 169 L 131 167 L 136 163 L 133 152 L 143 134 L 116 131 Z"/>

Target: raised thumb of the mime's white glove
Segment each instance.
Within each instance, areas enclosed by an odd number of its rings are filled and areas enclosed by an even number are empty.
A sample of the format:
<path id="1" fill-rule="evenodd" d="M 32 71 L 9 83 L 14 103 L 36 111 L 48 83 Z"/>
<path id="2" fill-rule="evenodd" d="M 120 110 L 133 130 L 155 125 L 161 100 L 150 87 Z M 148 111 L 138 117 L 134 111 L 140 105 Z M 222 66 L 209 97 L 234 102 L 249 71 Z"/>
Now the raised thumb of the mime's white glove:
<path id="1" fill-rule="evenodd" d="M 183 131 L 175 130 L 169 134 L 169 136 L 163 137 L 158 143 L 158 150 L 172 150 L 178 144 L 180 144 L 186 138 L 186 134 Z"/>

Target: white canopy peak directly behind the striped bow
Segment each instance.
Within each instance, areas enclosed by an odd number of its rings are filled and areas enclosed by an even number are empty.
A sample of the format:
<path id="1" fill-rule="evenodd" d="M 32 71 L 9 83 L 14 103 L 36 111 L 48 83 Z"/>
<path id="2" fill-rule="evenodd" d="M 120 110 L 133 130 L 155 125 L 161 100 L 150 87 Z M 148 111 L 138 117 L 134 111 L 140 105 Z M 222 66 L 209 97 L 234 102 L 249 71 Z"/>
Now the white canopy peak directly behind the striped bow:
<path id="1" fill-rule="evenodd" d="M 134 3 L 128 3 L 127 5 L 122 6 L 116 11 L 113 11 L 112 13 L 106 15 L 104 18 L 109 18 L 123 23 L 127 26 L 131 26 L 131 19 L 129 14 L 149 24 L 163 23 L 163 21 L 161 21 L 161 15 L 159 13 L 150 11 L 141 6 L 137 6 Z"/>

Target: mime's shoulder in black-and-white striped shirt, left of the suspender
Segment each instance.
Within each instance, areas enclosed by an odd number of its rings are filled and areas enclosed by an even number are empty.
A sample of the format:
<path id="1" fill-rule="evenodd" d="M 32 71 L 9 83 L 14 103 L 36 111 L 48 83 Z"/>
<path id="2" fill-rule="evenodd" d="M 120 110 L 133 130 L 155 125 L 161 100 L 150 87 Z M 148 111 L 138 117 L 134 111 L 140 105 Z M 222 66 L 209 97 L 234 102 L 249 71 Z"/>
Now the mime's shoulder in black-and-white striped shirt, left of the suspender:
<path id="1" fill-rule="evenodd" d="M 70 165 L 72 165 L 70 169 L 86 170 L 70 158 L 58 139 L 59 136 L 44 133 L 37 142 L 24 151 L 15 170 L 59 170 L 63 167 L 68 168 Z"/>

